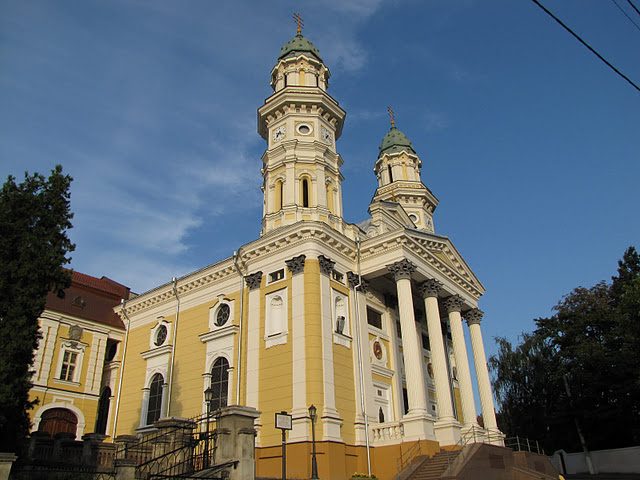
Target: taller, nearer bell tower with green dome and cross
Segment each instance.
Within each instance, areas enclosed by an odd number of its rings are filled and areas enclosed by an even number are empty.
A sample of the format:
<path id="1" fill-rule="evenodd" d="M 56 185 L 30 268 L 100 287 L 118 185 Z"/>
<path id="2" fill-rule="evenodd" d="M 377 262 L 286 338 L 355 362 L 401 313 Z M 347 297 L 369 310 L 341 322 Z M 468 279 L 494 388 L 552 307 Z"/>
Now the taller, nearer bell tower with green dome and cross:
<path id="1" fill-rule="evenodd" d="M 329 69 L 294 18 L 296 35 L 271 71 L 273 94 L 258 109 L 258 133 L 267 141 L 261 235 L 305 220 L 344 230 L 336 141 L 346 113 L 327 93 Z"/>

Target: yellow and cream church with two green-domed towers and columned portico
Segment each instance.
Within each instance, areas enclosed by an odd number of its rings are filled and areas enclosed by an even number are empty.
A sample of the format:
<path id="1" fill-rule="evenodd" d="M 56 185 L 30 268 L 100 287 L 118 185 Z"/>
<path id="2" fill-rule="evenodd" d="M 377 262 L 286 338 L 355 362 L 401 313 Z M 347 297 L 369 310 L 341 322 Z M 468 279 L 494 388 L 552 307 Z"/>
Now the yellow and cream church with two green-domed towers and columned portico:
<path id="1" fill-rule="evenodd" d="M 112 436 L 202 415 L 211 388 L 214 410 L 260 412 L 257 477 L 280 476 L 274 416 L 283 411 L 292 415 L 288 476 L 311 476 L 312 405 L 320 478 L 369 465 L 395 478 L 411 449 L 433 454 L 469 435 L 501 443 L 478 309 L 484 288 L 437 233 L 438 199 L 393 118 L 371 159 L 369 216 L 345 221 L 337 142 L 346 112 L 329 79 L 298 29 L 258 109 L 267 145 L 259 238 L 116 308 L 127 334 Z"/>

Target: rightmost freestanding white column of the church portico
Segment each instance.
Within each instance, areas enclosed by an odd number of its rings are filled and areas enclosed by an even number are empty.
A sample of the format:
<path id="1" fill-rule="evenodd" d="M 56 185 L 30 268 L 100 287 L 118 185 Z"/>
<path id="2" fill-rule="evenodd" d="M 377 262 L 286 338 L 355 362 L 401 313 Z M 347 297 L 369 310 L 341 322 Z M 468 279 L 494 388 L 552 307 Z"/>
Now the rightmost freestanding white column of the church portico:
<path id="1" fill-rule="evenodd" d="M 473 350 L 473 360 L 476 365 L 476 378 L 478 379 L 478 392 L 480 393 L 484 428 L 489 431 L 489 433 L 496 433 L 498 431 L 498 424 L 493 406 L 493 393 L 491 391 L 491 382 L 489 381 L 487 357 L 484 353 L 482 332 L 480 331 L 480 321 L 483 315 L 482 310 L 474 308 L 466 312 L 464 318 L 467 320 L 469 332 L 471 333 L 471 348 Z"/>

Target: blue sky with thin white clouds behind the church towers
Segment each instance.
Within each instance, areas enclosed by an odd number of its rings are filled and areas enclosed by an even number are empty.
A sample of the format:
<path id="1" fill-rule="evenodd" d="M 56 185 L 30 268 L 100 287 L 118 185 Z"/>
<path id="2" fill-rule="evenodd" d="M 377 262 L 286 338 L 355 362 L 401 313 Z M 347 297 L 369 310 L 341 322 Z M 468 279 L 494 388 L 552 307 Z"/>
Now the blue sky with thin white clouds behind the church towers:
<path id="1" fill-rule="evenodd" d="M 640 82 L 613 2 L 543 3 Z M 347 111 L 346 219 L 393 105 L 487 288 L 490 353 L 640 244 L 640 93 L 531 1 L 0 0 L 0 175 L 74 177 L 73 268 L 141 292 L 257 237 L 256 109 L 294 11 Z"/>

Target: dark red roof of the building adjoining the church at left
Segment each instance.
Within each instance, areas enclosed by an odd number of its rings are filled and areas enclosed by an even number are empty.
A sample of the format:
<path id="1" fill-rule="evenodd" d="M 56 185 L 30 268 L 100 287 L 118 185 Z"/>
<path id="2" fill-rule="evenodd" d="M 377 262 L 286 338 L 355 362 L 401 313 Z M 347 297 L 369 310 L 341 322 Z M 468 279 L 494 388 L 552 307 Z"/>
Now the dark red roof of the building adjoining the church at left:
<path id="1" fill-rule="evenodd" d="M 71 286 L 64 298 L 55 293 L 47 296 L 47 309 L 84 318 L 111 327 L 124 329 L 124 324 L 113 307 L 128 299 L 128 287 L 107 277 L 96 278 L 80 272 L 72 272 Z"/>

